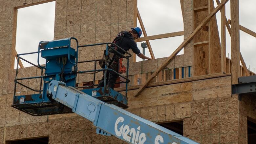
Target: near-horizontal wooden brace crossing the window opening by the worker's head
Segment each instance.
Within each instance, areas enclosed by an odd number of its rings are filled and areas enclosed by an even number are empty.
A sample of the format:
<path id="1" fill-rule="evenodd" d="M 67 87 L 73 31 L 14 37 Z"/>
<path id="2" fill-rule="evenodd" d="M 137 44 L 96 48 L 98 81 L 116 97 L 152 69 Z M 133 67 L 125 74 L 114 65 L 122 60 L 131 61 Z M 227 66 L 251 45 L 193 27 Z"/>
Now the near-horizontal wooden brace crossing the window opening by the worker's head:
<path id="1" fill-rule="evenodd" d="M 136 42 L 143 42 L 143 41 L 147 41 L 147 40 L 155 40 L 155 39 L 175 37 L 175 36 L 181 36 L 181 35 L 184 35 L 184 31 L 177 31 L 177 32 L 170 32 L 170 33 L 164 33 L 164 34 L 158 34 L 158 35 L 152 35 L 152 36 L 145 36 L 145 37 L 136 39 Z"/>

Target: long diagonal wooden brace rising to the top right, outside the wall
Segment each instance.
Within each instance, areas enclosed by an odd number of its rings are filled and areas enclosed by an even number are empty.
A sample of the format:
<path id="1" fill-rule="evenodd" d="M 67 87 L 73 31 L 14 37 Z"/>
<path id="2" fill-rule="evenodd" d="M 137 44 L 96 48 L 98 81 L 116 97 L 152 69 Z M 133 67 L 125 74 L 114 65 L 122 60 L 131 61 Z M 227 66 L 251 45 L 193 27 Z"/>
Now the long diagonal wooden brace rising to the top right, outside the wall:
<path id="1" fill-rule="evenodd" d="M 205 26 L 207 24 L 207 22 L 209 22 L 209 20 L 225 5 L 225 3 L 227 2 L 228 0 L 224 0 L 222 1 L 203 21 L 200 25 L 198 25 L 198 27 L 186 38 L 186 40 L 184 40 L 181 45 L 170 55 L 170 57 L 168 57 L 164 62 L 163 64 L 150 76 L 150 78 L 146 81 L 145 84 L 143 84 L 139 90 L 137 91 L 137 93 L 135 93 L 135 97 L 139 96 L 139 94 L 148 86 L 148 84 L 150 83 L 150 81 L 158 75 L 158 73 L 160 71 L 162 71 L 162 69 L 164 67 L 166 67 L 169 62 L 171 60 L 174 59 L 174 57 L 182 50 L 182 48 L 184 46 L 186 46 L 191 40 L 192 38 L 197 34 L 198 31 L 200 31 L 203 26 Z"/>

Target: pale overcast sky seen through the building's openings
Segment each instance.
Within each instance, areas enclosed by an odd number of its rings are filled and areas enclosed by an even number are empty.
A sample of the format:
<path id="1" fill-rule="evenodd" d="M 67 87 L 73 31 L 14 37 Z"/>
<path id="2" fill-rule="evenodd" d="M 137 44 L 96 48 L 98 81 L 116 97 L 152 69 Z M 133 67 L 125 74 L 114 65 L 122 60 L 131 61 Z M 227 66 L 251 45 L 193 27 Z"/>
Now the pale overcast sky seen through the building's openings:
<path id="1" fill-rule="evenodd" d="M 215 2 L 215 0 L 214 0 Z M 240 25 L 256 32 L 256 1 L 240 0 Z M 216 2 L 215 2 L 216 7 Z M 180 0 L 138 0 L 138 9 L 147 35 L 183 31 Z M 16 50 L 18 53 L 37 51 L 38 43 L 53 40 L 55 2 L 18 9 Z M 230 19 L 230 2 L 226 4 L 226 17 Z M 217 13 L 220 26 L 220 12 Z M 138 21 L 139 26 L 139 21 Z M 219 31 L 220 28 L 219 28 Z M 151 40 L 156 58 L 167 57 L 183 42 L 183 36 Z M 226 33 L 226 53 L 231 58 L 230 36 Z M 240 51 L 250 70 L 256 68 L 256 38 L 240 31 Z M 140 43 L 138 43 L 140 48 Z M 140 48 L 142 52 L 142 48 Z M 181 51 L 179 54 L 183 54 Z M 148 50 L 146 55 L 150 56 Z M 24 56 L 23 56 L 24 57 Z M 26 59 L 36 59 L 36 55 Z M 137 61 L 141 59 L 137 57 Z M 43 62 L 42 62 L 43 63 Z M 28 66 L 25 62 L 23 64 Z"/>

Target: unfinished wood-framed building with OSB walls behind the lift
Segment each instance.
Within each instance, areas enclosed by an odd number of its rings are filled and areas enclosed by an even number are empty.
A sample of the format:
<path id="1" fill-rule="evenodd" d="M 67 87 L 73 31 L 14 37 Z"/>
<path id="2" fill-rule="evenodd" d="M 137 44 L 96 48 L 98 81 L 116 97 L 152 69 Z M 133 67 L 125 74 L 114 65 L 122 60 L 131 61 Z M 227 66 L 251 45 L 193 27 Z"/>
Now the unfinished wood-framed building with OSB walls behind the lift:
<path id="1" fill-rule="evenodd" d="M 17 9 L 52 1 L 1 1 L 0 143 L 126 143 L 114 136 L 96 134 L 93 123 L 75 113 L 32 116 L 11 107 L 16 76 L 13 68 L 17 58 Z M 198 143 L 253 144 L 256 100 L 252 92 L 256 91 L 256 84 L 248 85 L 249 94 L 238 94 L 237 84 L 243 83 L 240 77 L 255 75 L 246 68 L 240 53 L 239 31 L 254 37 L 256 33 L 239 24 L 239 0 L 229 0 L 231 20 L 225 17 L 228 0 L 216 1 L 218 6 L 214 7 L 214 0 L 180 0 L 184 31 L 148 36 L 137 0 L 56 0 L 54 40 L 75 37 L 79 45 L 112 42 L 119 31 L 140 26 L 144 37 L 136 41 L 146 41 L 153 59 L 136 62 L 134 54 L 130 58 L 129 108 L 125 110 Z M 221 11 L 221 33 L 215 16 L 218 11 Z M 231 59 L 226 57 L 226 28 L 231 37 Z M 184 42 L 170 57 L 154 57 L 149 40 L 181 35 Z M 72 46 L 76 47 L 75 43 Z M 101 59 L 105 49 L 105 46 L 80 48 L 79 61 Z M 184 54 L 177 55 L 182 49 Z M 41 69 L 23 68 L 22 63 L 18 63 L 17 78 L 42 75 Z M 79 63 L 78 69 L 93 70 L 94 65 L 94 62 Z M 78 74 L 76 84 L 78 89 L 85 89 L 101 78 L 101 72 L 95 76 Z M 40 78 L 20 80 L 23 85 L 17 84 L 16 96 L 38 93 L 24 85 L 39 90 L 40 82 Z M 125 93 L 123 84 L 116 84 L 115 90 Z"/>

